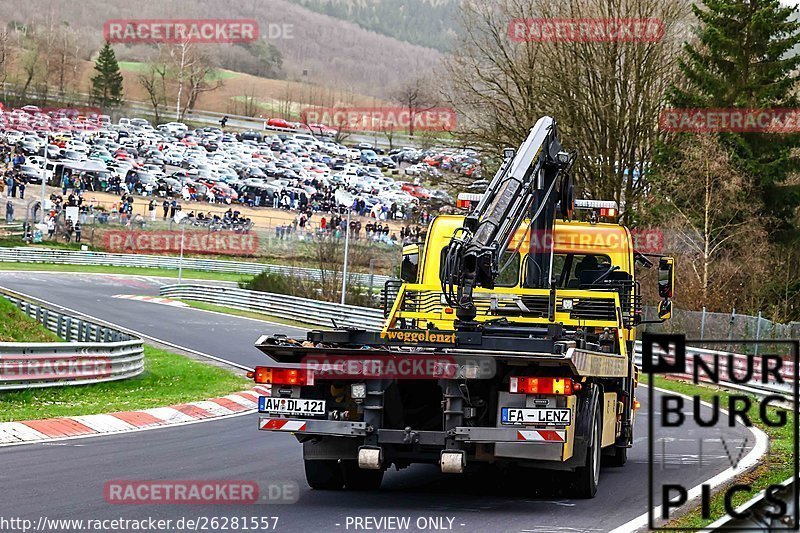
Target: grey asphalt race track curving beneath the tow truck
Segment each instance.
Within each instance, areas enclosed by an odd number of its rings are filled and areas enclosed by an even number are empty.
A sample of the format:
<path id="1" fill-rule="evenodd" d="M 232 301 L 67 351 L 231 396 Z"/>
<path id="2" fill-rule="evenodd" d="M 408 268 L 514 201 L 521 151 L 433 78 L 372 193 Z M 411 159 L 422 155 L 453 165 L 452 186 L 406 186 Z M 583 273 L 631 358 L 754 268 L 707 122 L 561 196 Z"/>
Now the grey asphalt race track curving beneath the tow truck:
<path id="1" fill-rule="evenodd" d="M 126 328 L 244 365 L 263 361 L 255 339 L 265 333 L 302 335 L 287 326 L 189 308 L 113 298 L 156 295 L 162 283 L 145 277 L 2 272 L 0 285 Z M 554 492 L 548 475 L 479 471 L 443 476 L 433 466 L 390 471 L 376 493 L 312 491 L 303 475 L 301 447 L 290 435 L 259 432 L 256 415 L 115 436 L 0 448 L 0 516 L 36 523 L 48 519 L 147 517 L 279 517 L 277 531 L 352 531 L 348 517 L 444 518 L 455 531 L 610 531 L 647 511 L 647 390 L 639 390 L 636 445 L 624 468 L 604 469 L 598 495 L 570 500 Z M 691 406 L 685 410 L 690 411 Z M 689 417 L 691 418 L 691 417 Z M 665 434 L 666 435 L 666 434 Z M 691 425 L 666 435 L 657 476 L 694 486 L 729 468 L 723 450 L 752 448 L 741 426 Z M 698 440 L 704 439 L 702 452 Z M 747 439 L 745 441 L 745 439 Z M 661 451 L 661 450 L 657 450 Z M 744 453 L 742 453 L 742 456 Z M 284 505 L 111 505 L 110 480 L 253 480 L 294 482 L 299 499 Z M 448 519 L 452 519 L 451 522 Z M 173 522 L 174 523 L 174 522 Z"/>

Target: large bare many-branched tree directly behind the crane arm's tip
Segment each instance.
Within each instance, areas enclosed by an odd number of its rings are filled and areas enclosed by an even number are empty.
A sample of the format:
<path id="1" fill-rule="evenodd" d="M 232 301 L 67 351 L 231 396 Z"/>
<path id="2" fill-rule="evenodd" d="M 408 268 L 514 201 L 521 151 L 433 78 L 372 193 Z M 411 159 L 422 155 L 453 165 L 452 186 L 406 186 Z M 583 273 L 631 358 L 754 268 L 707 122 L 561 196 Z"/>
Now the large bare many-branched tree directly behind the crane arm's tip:
<path id="1" fill-rule="evenodd" d="M 623 219 L 647 189 L 646 171 L 660 137 L 659 114 L 677 76 L 688 17 L 683 0 L 469 0 L 462 42 L 446 63 L 449 102 L 466 144 L 498 153 L 516 146 L 542 115 L 554 116 L 565 145 L 576 148 L 579 189 L 616 200 Z M 654 19 L 660 39 L 542 42 L 511 38 L 512 21 Z"/>

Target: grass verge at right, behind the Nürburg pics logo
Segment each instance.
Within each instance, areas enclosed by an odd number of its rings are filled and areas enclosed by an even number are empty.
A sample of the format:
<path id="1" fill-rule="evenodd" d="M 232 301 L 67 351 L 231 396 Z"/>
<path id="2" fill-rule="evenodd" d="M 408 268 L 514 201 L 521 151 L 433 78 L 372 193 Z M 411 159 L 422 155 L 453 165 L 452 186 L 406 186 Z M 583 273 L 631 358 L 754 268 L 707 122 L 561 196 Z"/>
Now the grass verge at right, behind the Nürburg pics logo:
<path id="1" fill-rule="evenodd" d="M 642 384 L 644 385 L 646 382 L 647 379 L 645 378 Z M 714 396 L 718 396 L 720 406 L 723 409 L 728 405 L 729 394 L 712 387 L 698 386 L 692 383 L 665 379 L 659 376 L 656 376 L 654 385 L 687 396 L 699 395 L 700 398 L 705 401 L 711 401 Z M 756 397 L 752 396 L 752 399 L 756 400 Z M 752 487 L 752 492 L 736 493 L 732 499 L 734 508 L 744 504 L 759 491 L 764 490 L 768 486 L 778 485 L 794 475 L 793 439 L 794 424 L 797 423 L 795 416 L 791 411 L 784 411 L 787 416 L 786 424 L 782 427 L 771 427 L 761 420 L 759 405 L 758 401 L 753 401 L 748 411 L 748 416 L 750 420 L 753 421 L 753 425 L 762 430 L 769 437 L 769 448 L 755 469 L 734 480 L 737 483 L 749 484 Z M 777 420 L 779 416 L 777 414 L 778 411 L 783 410 L 776 407 L 767 408 L 768 418 L 770 420 Z M 710 516 L 719 518 L 723 515 L 725 515 L 724 492 L 718 492 L 711 498 Z M 700 529 L 711 522 L 713 522 L 713 520 L 702 517 L 701 510 L 698 507 L 670 521 L 664 527 Z"/>

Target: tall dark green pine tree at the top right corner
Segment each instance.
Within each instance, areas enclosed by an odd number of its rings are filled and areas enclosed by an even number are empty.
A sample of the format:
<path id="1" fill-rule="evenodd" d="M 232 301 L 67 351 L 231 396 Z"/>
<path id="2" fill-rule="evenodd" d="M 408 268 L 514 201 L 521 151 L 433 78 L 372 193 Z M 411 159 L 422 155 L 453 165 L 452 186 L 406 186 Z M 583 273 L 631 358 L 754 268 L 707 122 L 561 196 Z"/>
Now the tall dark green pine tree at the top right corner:
<path id="1" fill-rule="evenodd" d="M 800 23 L 796 9 L 779 0 L 703 0 L 692 6 L 700 21 L 699 45 L 687 43 L 679 67 L 682 87 L 670 91 L 677 108 L 796 109 Z M 720 141 L 752 181 L 763 215 L 779 230 L 792 227 L 800 188 L 789 186 L 800 168 L 792 157 L 800 136 L 785 133 L 721 133 Z"/>

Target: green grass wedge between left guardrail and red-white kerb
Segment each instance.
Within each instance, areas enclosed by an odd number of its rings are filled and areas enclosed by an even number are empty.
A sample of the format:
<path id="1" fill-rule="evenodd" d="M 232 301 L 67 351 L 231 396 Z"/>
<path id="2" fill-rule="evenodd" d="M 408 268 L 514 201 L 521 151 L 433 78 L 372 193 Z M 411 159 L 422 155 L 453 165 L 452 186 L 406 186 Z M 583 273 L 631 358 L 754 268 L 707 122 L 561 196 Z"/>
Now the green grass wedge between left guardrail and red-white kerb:
<path id="1" fill-rule="evenodd" d="M 245 390 L 252 384 L 224 368 L 145 346 L 143 374 L 121 381 L 0 393 L 0 422 L 163 407 Z"/>

